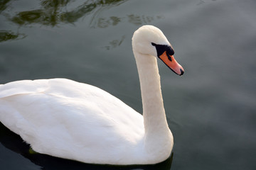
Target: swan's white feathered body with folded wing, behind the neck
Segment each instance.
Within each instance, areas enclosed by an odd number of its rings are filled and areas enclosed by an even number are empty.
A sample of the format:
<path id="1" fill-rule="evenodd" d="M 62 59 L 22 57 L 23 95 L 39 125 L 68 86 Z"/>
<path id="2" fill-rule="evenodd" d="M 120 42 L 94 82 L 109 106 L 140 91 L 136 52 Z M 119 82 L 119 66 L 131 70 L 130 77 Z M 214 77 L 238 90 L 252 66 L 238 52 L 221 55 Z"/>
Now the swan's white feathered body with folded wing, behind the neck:
<path id="1" fill-rule="evenodd" d="M 95 86 L 25 80 L 1 85 L 0 91 L 1 122 L 36 152 L 105 161 L 134 148 L 144 136 L 142 115 Z"/>

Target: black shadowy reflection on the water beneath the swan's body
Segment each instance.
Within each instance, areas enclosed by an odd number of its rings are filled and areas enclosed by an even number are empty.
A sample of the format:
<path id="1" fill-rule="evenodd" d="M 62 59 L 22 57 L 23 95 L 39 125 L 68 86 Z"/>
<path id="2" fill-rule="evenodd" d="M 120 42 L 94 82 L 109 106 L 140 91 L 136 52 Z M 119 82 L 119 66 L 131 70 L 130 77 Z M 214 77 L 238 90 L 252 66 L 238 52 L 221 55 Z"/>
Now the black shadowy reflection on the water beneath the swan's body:
<path id="1" fill-rule="evenodd" d="M 171 162 L 173 159 L 174 154 L 171 154 L 171 157 L 164 162 L 154 165 L 134 165 L 134 166 L 110 166 L 110 165 L 97 165 L 97 164 L 84 164 L 81 162 L 75 162 L 68 159 L 61 159 L 57 157 L 50 157 L 46 154 L 37 154 L 31 153 L 29 145 L 26 145 L 25 142 L 16 135 L 14 132 L 11 132 L 8 128 L 4 127 L 3 124 L 0 123 L 0 142 L 6 148 L 11 149 L 12 151 L 16 152 L 17 154 L 21 154 L 23 157 L 31 160 L 34 164 L 38 166 L 42 166 L 44 170 L 49 169 L 102 169 L 102 170 L 114 170 L 114 169 L 144 169 L 144 170 L 169 170 L 171 169 Z"/>

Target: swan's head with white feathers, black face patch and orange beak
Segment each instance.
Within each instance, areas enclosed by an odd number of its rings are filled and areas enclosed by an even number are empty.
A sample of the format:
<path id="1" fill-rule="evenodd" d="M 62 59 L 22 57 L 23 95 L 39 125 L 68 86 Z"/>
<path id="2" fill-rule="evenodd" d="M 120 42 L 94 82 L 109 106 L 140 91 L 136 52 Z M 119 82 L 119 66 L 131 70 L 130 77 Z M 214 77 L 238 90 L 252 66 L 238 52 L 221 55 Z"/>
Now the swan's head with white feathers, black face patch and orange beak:
<path id="1" fill-rule="evenodd" d="M 174 48 L 164 36 L 164 33 L 155 26 L 142 26 L 134 32 L 132 37 L 134 53 L 158 57 L 174 73 L 182 75 L 183 67 L 174 59 Z"/>

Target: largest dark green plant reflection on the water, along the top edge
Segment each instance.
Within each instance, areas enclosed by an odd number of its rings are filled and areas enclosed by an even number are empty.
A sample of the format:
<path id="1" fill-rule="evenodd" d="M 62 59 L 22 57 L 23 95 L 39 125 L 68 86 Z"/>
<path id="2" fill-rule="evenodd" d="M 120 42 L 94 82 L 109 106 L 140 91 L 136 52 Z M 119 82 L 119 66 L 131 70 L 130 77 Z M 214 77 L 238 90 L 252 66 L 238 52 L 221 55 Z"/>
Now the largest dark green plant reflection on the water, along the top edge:
<path id="1" fill-rule="evenodd" d="M 11 17 L 11 21 L 18 25 L 40 23 L 47 26 L 56 26 L 58 23 L 75 23 L 79 18 L 91 13 L 96 8 L 117 6 L 125 0 L 86 1 L 73 11 L 67 11 L 66 6 L 70 0 L 41 1 L 41 8 L 31 11 L 21 11 Z"/>

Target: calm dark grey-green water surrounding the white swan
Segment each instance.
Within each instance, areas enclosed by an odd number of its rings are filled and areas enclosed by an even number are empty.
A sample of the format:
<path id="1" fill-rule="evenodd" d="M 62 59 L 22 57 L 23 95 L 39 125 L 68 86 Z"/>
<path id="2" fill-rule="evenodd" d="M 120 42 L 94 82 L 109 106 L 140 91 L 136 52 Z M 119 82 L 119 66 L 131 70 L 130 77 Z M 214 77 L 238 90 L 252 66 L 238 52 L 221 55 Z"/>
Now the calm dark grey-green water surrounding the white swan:
<path id="1" fill-rule="evenodd" d="M 178 77 L 159 62 L 174 134 L 167 162 L 110 167 L 31 156 L 1 126 L 0 169 L 256 169 L 255 8 L 254 0 L 0 1 L 0 84 L 65 77 L 142 113 L 131 38 L 145 24 L 164 32 L 185 69 Z"/>

